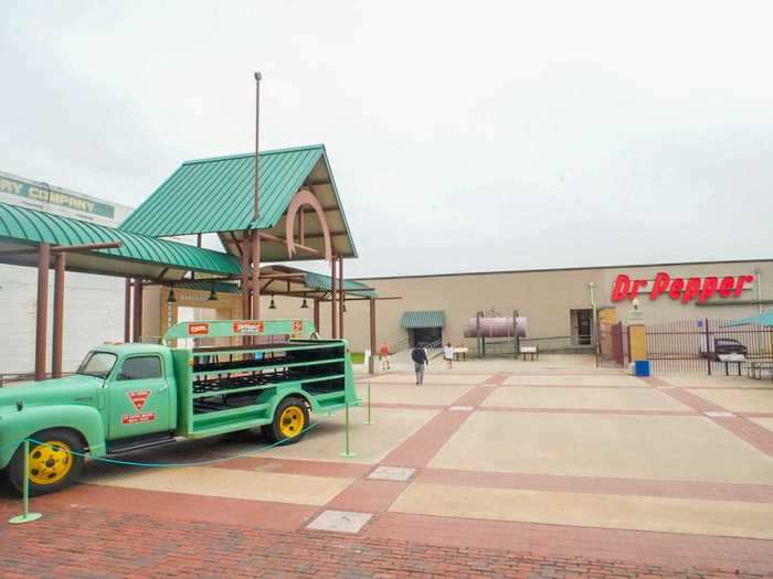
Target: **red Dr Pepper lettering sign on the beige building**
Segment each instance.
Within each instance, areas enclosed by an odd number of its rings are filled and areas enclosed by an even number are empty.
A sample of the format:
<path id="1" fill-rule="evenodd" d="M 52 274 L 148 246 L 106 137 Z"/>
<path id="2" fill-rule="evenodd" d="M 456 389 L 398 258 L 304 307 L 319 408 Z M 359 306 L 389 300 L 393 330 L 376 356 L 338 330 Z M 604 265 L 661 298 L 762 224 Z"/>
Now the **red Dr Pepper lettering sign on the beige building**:
<path id="1" fill-rule="evenodd" d="M 682 303 L 689 303 L 695 299 L 706 301 L 714 294 L 719 294 L 720 298 L 730 298 L 740 296 L 746 289 L 744 286 L 752 281 L 754 276 L 724 276 L 721 279 L 709 276 L 685 279 L 671 278 L 665 271 L 660 271 L 655 276 L 655 280 L 648 280 L 631 279 L 621 274 L 612 287 L 612 301 L 622 301 L 626 298 L 633 300 L 639 290 L 645 289 L 649 290 L 650 300 L 657 300 L 664 293 L 673 300 L 681 300 Z"/>

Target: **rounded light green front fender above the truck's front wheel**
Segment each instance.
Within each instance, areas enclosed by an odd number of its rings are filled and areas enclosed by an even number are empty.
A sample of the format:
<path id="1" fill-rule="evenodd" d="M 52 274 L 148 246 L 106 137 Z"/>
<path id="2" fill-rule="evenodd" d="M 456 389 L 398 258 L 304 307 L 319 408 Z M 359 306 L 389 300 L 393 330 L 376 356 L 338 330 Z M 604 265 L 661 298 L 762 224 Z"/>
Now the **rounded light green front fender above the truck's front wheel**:
<path id="1" fill-rule="evenodd" d="M 41 430 L 70 428 L 78 432 L 94 457 L 105 454 L 105 425 L 96 408 L 77 405 L 25 406 L 0 414 L 0 469 L 8 467 L 21 442 Z"/>

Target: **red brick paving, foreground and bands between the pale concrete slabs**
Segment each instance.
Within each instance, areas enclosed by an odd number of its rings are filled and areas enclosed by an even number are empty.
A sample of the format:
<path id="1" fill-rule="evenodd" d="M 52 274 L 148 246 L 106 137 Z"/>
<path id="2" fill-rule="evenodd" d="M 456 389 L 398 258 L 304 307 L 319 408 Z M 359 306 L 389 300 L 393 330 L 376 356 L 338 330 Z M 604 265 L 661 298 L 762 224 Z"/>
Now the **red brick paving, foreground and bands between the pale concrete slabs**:
<path id="1" fill-rule="evenodd" d="M 517 373 L 519 379 L 533 374 L 537 379 L 527 385 L 534 388 L 559 386 L 540 383 L 539 374 L 562 377 L 562 388 L 620 387 L 604 379 L 595 384 L 589 376 L 617 378 L 592 369 L 530 373 L 523 368 Z M 456 384 L 464 383 L 464 371 L 454 374 Z M 395 384 L 404 384 L 402 373 L 393 375 Z M 486 412 L 702 417 L 762 454 L 773 455 L 773 431 L 750 420 L 773 415 L 707 416 L 706 411 L 727 409 L 697 395 L 700 385 L 691 385 L 693 392 L 688 393 L 657 378 L 637 383 L 636 387 L 658 388 L 680 401 L 685 409 L 678 411 L 481 406 L 491 393 L 507 388 L 511 376 L 516 374 L 496 372 L 485 379 L 469 374 L 470 388 L 451 404 L 375 404 L 375 409 L 421 408 L 437 414 L 373 464 L 337 458 L 316 461 L 258 455 L 211 465 L 218 472 L 230 469 L 234 475 L 252 471 L 351 480 L 324 505 L 226 497 L 207 489 L 194 495 L 116 487 L 99 484 L 97 475 L 96 485 L 81 484 L 35 498 L 33 507 L 44 517 L 12 527 L 4 521 L 18 514 L 20 505 L 0 486 L 0 577 L 773 577 L 773 542 L 746 535 L 723 537 L 392 511 L 392 504 L 414 483 L 434 484 L 438 493 L 444 486 L 466 485 L 773 503 L 773 481 L 740 484 L 632 479 L 614 473 L 605 478 L 433 468 L 430 463 L 452 437 L 473 417 Z M 571 376 L 578 380 L 573 383 Z M 443 379 L 441 374 L 432 378 L 438 384 Z M 172 461 L 230 454 L 216 442 L 205 448 L 183 444 L 178 452 Z M 335 449 L 332 457 L 337 452 Z M 415 472 L 404 482 L 368 479 L 379 465 L 410 467 Z M 118 468 L 98 467 L 92 464 L 91 472 L 108 479 L 123 475 Z M 372 517 L 354 535 L 306 529 L 325 510 L 367 512 Z"/>

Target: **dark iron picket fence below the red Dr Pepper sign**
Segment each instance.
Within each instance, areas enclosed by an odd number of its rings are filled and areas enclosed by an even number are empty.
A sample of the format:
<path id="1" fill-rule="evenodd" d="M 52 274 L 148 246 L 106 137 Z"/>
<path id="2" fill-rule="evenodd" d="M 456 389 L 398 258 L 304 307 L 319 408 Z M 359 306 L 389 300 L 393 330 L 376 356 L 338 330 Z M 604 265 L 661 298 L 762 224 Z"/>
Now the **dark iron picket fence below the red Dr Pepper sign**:
<path id="1" fill-rule="evenodd" d="M 702 319 L 647 325 L 647 358 L 652 372 L 724 373 L 722 354 L 738 353 L 749 362 L 773 361 L 773 332 L 756 324 L 729 328 L 732 320 Z"/>

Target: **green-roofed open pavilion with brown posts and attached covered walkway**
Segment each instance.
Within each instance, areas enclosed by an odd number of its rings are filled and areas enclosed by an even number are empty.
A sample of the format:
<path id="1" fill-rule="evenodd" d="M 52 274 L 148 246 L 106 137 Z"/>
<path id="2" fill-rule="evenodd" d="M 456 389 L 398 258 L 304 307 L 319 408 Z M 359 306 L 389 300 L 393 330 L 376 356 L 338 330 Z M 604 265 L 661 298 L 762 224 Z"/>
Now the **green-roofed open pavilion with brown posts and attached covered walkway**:
<path id="1" fill-rule="evenodd" d="M 216 234 L 225 251 L 201 247 L 204 234 Z M 198 246 L 167 239 L 179 235 L 195 235 Z M 343 259 L 353 257 L 353 238 L 322 144 L 183 162 L 117 228 L 0 203 L 0 262 L 39 270 L 35 379 L 46 376 L 52 265 L 51 375 L 57 377 L 65 270 L 126 278 L 125 341 L 142 339 L 147 286 L 239 291 L 243 319 L 261 318 L 260 298 L 271 288 L 311 299 L 316 326 L 319 303 L 329 302 L 330 337 L 343 335 L 345 300 L 369 300 L 374 351 L 375 300 L 386 298 L 343 279 Z M 327 260 L 330 276 L 267 265 L 310 259 Z"/>

